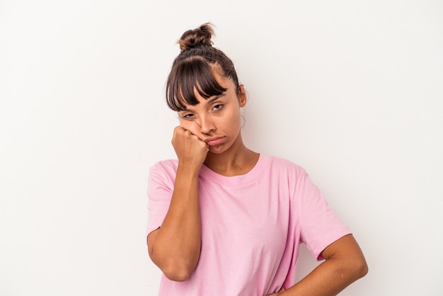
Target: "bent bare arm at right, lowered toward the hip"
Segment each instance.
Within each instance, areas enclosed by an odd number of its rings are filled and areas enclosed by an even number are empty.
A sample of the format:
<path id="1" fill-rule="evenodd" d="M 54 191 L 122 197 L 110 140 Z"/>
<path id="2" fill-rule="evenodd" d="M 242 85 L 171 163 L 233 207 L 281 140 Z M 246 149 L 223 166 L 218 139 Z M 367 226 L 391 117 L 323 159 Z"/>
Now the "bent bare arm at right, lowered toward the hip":
<path id="1" fill-rule="evenodd" d="M 362 250 L 352 234 L 333 242 L 321 253 L 326 259 L 309 275 L 282 296 L 332 296 L 367 274 L 368 267 Z"/>

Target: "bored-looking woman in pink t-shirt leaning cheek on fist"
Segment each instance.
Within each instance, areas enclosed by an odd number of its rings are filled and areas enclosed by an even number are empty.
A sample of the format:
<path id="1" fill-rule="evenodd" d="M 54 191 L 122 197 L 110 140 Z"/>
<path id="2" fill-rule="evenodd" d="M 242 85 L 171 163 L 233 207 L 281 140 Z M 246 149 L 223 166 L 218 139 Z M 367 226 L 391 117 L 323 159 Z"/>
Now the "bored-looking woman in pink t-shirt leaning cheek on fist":
<path id="1" fill-rule="evenodd" d="M 243 144 L 246 93 L 212 35 L 183 33 L 166 84 L 180 125 L 178 159 L 149 173 L 159 295 L 337 295 L 367 273 L 362 251 L 304 169 Z M 301 243 L 324 262 L 294 283 Z"/>

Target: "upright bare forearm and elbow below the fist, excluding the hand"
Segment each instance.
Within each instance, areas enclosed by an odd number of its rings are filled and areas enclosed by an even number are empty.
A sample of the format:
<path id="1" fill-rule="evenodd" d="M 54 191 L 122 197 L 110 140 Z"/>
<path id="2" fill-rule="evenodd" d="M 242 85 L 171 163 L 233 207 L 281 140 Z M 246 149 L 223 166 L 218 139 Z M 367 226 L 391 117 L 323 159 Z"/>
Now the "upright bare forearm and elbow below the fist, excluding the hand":
<path id="1" fill-rule="evenodd" d="M 185 280 L 197 265 L 200 244 L 198 169 L 179 164 L 171 205 L 149 255 L 168 278 Z"/>

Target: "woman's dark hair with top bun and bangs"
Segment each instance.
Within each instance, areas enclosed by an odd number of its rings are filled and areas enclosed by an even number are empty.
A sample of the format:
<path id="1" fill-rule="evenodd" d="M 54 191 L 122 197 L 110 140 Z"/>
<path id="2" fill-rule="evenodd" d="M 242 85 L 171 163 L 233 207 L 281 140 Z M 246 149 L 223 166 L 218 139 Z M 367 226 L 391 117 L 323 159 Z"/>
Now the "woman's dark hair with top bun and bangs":
<path id="1" fill-rule="evenodd" d="M 237 91 L 240 91 L 234 64 L 222 50 L 212 47 L 212 35 L 212 25 L 205 23 L 194 30 L 187 30 L 178 41 L 180 55 L 174 60 L 166 81 L 166 103 L 172 110 L 185 109 L 185 103 L 197 105 L 199 102 L 194 89 L 203 98 L 226 91 L 217 82 L 214 71 L 234 81 Z"/>

